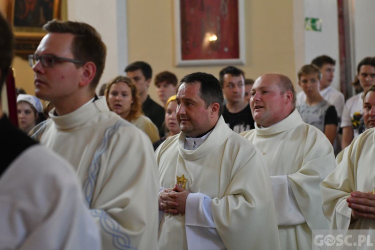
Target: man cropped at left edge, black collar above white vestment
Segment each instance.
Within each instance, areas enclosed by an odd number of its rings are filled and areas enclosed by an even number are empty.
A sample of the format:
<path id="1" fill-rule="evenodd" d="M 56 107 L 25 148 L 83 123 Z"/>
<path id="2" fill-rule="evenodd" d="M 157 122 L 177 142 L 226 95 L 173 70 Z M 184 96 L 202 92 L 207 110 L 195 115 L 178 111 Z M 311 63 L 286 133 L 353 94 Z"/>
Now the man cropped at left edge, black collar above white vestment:
<path id="1" fill-rule="evenodd" d="M 1 13 L 0 34 L 0 248 L 101 249 L 70 164 L 13 126 L 2 109 L 13 34 Z"/>

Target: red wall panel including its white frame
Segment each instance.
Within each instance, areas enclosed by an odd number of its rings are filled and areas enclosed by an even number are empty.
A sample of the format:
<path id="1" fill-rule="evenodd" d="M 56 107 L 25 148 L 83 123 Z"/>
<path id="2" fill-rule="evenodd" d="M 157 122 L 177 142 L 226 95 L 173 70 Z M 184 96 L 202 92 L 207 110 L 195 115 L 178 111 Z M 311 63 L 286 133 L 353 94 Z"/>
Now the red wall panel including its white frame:
<path id="1" fill-rule="evenodd" d="M 174 0 L 175 64 L 243 64 L 244 0 Z"/>

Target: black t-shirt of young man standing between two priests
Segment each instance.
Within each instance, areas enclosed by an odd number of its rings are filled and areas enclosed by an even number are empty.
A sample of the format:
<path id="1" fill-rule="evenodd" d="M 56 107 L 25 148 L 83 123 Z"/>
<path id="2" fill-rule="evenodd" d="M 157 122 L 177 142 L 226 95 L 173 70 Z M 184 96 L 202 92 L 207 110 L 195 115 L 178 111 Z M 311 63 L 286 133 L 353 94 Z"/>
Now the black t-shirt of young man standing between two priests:
<path id="1" fill-rule="evenodd" d="M 246 130 L 255 128 L 254 119 L 251 115 L 250 104 L 247 104 L 245 108 L 237 113 L 231 113 L 224 105 L 222 117 L 225 123 L 236 133 L 240 133 Z"/>

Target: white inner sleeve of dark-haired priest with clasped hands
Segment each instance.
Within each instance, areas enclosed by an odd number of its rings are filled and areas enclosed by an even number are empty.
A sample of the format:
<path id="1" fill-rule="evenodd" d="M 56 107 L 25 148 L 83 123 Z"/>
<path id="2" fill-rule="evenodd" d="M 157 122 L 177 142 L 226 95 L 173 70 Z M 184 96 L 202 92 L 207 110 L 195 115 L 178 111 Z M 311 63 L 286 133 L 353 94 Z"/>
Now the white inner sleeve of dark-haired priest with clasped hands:
<path id="1" fill-rule="evenodd" d="M 187 195 L 185 230 L 188 249 L 225 249 L 212 218 L 211 202 L 210 197 L 200 192 Z"/>

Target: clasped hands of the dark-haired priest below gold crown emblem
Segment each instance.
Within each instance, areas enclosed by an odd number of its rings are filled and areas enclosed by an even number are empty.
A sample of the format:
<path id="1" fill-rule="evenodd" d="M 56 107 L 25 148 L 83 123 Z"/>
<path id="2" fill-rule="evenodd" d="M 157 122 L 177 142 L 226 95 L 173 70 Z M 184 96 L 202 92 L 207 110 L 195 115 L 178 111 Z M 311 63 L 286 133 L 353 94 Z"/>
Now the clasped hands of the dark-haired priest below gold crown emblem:
<path id="1" fill-rule="evenodd" d="M 186 198 L 190 192 L 175 184 L 173 188 L 165 188 L 159 193 L 159 209 L 165 213 L 176 215 L 185 213 Z"/>

